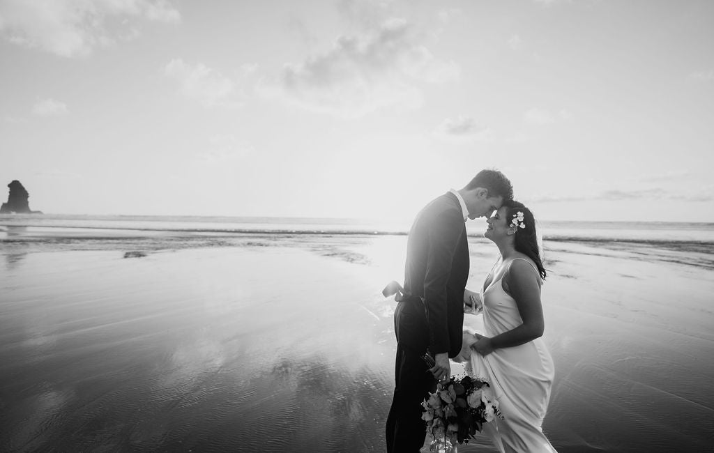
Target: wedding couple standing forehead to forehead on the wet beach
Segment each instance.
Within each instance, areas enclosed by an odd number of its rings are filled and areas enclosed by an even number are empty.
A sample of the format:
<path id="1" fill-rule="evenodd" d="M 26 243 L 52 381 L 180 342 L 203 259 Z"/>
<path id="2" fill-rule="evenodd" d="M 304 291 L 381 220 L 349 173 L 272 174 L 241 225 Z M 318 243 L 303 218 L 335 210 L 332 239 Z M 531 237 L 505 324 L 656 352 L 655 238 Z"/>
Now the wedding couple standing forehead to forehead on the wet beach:
<path id="1" fill-rule="evenodd" d="M 486 218 L 483 235 L 498 260 L 476 290 L 467 290 L 466 221 Z M 478 247 L 492 247 L 481 245 Z M 496 255 L 496 253 L 494 253 Z M 386 422 L 387 452 L 418 452 L 426 437 L 422 403 L 451 378 L 450 360 L 488 380 L 503 419 L 483 425 L 501 452 L 555 452 L 543 434 L 553 360 L 540 339 L 545 279 L 533 213 L 513 200 L 511 181 L 481 170 L 459 190 L 428 203 L 409 230 L 404 283 L 396 293 L 394 395 Z M 465 332 L 465 313 L 483 316 L 483 332 Z"/>

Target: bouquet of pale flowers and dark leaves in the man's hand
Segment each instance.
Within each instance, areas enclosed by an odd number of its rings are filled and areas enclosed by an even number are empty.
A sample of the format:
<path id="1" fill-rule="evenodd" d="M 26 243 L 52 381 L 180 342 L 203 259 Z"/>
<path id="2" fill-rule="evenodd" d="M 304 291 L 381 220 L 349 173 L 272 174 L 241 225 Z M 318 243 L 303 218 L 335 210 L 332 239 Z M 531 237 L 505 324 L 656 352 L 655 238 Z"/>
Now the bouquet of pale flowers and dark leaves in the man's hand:
<path id="1" fill-rule="evenodd" d="M 433 437 L 432 452 L 453 452 L 457 442 L 468 444 L 469 439 L 475 439 L 484 423 L 496 417 L 503 419 L 488 382 L 470 376 L 459 380 L 452 376 L 448 382 L 439 382 L 436 392 L 421 405 L 426 432 Z"/>

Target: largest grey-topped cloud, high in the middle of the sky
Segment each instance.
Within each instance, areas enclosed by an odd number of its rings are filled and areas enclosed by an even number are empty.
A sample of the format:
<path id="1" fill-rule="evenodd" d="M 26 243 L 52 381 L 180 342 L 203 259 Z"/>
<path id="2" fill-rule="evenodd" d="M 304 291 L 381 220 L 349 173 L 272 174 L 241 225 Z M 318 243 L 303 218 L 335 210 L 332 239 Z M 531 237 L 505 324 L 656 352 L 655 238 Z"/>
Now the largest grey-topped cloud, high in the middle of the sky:
<path id="1" fill-rule="evenodd" d="M 311 111 L 354 118 L 380 108 L 418 108 L 418 83 L 460 76 L 456 63 L 441 61 L 418 42 L 403 19 L 391 19 L 359 36 L 341 36 L 324 54 L 283 68 L 278 86 L 263 93 Z"/>

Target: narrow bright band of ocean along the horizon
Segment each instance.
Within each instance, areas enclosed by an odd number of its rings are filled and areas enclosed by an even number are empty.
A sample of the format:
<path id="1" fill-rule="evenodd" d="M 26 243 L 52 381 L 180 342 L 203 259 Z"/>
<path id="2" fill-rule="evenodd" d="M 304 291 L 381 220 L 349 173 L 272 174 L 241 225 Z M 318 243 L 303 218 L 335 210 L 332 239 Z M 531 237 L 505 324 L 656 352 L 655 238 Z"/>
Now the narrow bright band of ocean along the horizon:
<path id="1" fill-rule="evenodd" d="M 373 234 L 404 235 L 409 221 L 343 218 L 218 217 L 192 215 L 0 215 L 0 233 L 51 233 L 52 230 L 104 230 L 164 233 Z M 653 243 L 714 243 L 714 223 L 543 221 L 544 240 L 626 240 Z M 72 230 L 69 230 L 72 229 Z M 485 221 L 466 223 L 468 235 L 481 237 Z M 129 233 L 127 233 L 129 234 Z"/>

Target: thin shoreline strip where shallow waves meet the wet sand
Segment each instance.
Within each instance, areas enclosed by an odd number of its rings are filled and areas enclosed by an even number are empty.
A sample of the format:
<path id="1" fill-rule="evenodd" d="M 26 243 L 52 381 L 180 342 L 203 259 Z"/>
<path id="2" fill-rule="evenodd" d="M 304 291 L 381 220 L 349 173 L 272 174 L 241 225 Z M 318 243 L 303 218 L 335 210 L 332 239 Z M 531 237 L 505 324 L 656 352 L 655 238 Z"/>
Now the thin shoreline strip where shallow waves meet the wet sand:
<path id="1" fill-rule="evenodd" d="M 99 232 L 104 234 L 99 234 Z M 108 233 L 113 234 L 108 234 Z M 373 240 L 391 241 L 396 248 L 406 247 L 406 234 L 363 233 L 363 232 L 313 232 L 313 231 L 257 231 L 241 230 L 228 232 L 183 231 L 183 230 L 146 230 L 144 228 L 82 228 L 82 227 L 41 227 L 36 231 L 14 231 L 12 234 L 0 230 L 0 244 L 4 250 L 0 255 L 16 253 L 51 252 L 54 250 L 122 250 L 131 256 L 162 250 L 186 250 L 195 248 L 222 247 L 276 247 L 321 243 L 341 243 L 356 241 L 369 243 Z M 489 244 L 486 238 L 468 235 L 469 243 Z M 682 265 L 702 267 L 714 270 L 714 243 L 693 240 L 653 240 L 653 239 L 604 239 L 568 237 L 543 238 L 545 262 L 550 254 L 560 248 L 573 247 L 609 250 L 612 253 L 633 253 L 636 260 L 651 259 L 660 262 L 672 262 Z M 561 250 L 565 251 L 565 250 Z M 593 252 L 583 252 L 592 254 Z M 685 255 L 686 254 L 686 255 Z M 136 255 L 134 255 L 136 256 Z"/>

